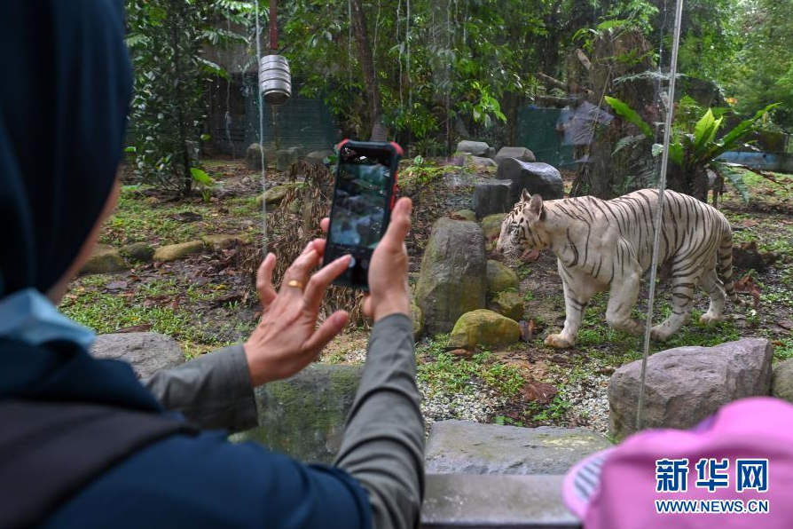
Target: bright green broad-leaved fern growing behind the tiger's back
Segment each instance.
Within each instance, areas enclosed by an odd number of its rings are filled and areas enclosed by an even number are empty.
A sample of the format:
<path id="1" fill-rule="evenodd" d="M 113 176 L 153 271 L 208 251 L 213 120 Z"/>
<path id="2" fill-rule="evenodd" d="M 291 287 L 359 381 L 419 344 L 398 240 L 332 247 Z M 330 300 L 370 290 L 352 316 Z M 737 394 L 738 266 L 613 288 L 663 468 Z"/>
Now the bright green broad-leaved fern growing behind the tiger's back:
<path id="1" fill-rule="evenodd" d="M 631 122 L 640 130 L 641 135 L 632 135 L 622 138 L 616 144 L 615 152 L 639 142 L 644 138 L 653 138 L 652 127 L 645 122 L 639 114 L 623 101 L 606 97 L 606 102 L 625 121 Z M 685 99 L 690 107 L 693 100 Z M 734 167 L 719 162 L 718 157 L 728 151 L 747 145 L 746 138 L 758 130 L 761 118 L 776 107 L 778 103 L 758 110 L 749 119 L 743 120 L 733 129 L 719 135 L 724 125 L 724 116 L 721 109 L 714 114 L 712 108 L 695 122 L 677 122 L 669 145 L 669 160 L 676 166 L 675 178 L 670 178 L 670 188 L 682 193 L 691 194 L 701 201 L 708 200 L 709 178 L 708 171 L 717 177 L 717 183 L 727 181 L 741 194 L 743 201 L 749 201 L 749 189 L 743 181 L 741 171 Z M 717 117 L 718 114 L 718 117 Z M 655 144 L 653 155 L 663 152 L 663 146 Z M 718 205 L 720 185 L 713 187 L 713 205 Z"/>

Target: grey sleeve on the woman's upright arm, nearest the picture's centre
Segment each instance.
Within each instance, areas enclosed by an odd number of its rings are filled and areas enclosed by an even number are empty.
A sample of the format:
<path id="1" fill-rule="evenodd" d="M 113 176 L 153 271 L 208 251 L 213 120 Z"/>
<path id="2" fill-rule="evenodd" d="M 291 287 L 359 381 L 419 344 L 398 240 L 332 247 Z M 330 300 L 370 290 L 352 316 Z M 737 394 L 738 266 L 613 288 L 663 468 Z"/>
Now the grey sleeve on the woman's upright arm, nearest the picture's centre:
<path id="1" fill-rule="evenodd" d="M 335 464 L 369 494 L 375 529 L 419 525 L 424 421 L 412 322 L 404 314 L 374 324 L 364 375 Z"/>

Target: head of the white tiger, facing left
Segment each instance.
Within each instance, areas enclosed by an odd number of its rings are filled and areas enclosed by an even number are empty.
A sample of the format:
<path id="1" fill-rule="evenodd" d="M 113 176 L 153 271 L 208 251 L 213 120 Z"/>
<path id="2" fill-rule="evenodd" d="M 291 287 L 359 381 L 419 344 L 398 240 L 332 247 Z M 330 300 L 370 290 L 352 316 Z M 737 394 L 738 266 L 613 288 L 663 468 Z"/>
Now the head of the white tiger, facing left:
<path id="1" fill-rule="evenodd" d="M 515 204 L 501 224 L 496 251 L 507 260 L 516 260 L 529 250 L 546 249 L 549 238 L 544 229 L 545 219 L 542 197 L 538 194 L 532 196 L 523 189 L 521 201 Z"/>

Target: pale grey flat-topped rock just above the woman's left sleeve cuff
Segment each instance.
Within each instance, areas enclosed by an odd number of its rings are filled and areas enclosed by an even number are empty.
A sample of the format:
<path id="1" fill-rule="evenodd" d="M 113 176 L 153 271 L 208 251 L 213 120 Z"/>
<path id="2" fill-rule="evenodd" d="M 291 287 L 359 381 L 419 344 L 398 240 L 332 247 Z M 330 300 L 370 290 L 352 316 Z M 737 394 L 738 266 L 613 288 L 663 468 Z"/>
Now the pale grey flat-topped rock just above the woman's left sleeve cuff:
<path id="1" fill-rule="evenodd" d="M 160 333 L 113 333 L 97 336 L 90 349 L 98 359 L 123 360 L 132 366 L 138 378 L 149 378 L 161 369 L 185 362 L 179 343 Z"/>

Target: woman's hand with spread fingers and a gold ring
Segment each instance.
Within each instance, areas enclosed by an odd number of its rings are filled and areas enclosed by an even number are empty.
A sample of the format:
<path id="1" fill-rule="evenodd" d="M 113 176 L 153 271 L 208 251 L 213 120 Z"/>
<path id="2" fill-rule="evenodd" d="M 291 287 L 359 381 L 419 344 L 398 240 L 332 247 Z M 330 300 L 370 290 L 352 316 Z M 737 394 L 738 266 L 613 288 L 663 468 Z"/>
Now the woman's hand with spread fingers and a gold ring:
<path id="1" fill-rule="evenodd" d="M 349 314 L 337 311 L 317 328 L 325 291 L 344 272 L 350 259 L 339 257 L 310 275 L 324 251 L 325 241 L 311 241 L 285 272 L 278 293 L 272 286 L 275 256 L 269 254 L 259 267 L 256 289 L 265 312 L 243 345 L 254 387 L 287 378 L 308 366 L 347 324 Z"/>

